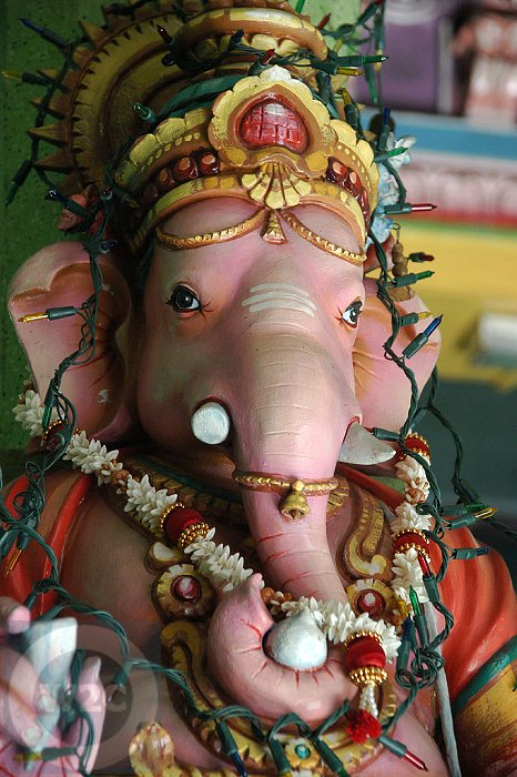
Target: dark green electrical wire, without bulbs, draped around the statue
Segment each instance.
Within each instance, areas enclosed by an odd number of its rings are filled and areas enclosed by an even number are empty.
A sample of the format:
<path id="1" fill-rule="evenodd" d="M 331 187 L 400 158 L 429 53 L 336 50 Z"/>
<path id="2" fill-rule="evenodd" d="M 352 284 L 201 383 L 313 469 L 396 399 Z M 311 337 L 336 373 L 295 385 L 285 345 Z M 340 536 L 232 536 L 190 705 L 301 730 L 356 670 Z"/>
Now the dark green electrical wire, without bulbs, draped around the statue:
<path id="1" fill-rule="evenodd" d="M 116 4 L 112 7 L 112 11 L 115 13 L 124 13 L 133 18 L 134 11 L 142 6 L 145 6 L 151 0 L 140 0 L 140 2 L 133 3 L 131 7 Z M 296 10 L 300 11 L 302 6 L 303 0 L 298 0 Z M 376 16 L 372 12 L 371 17 L 374 18 L 373 29 L 366 27 L 366 22 L 364 22 L 363 24 L 365 32 L 367 32 L 365 38 L 357 38 L 357 23 L 343 26 L 342 28 L 338 28 L 338 30 L 335 32 L 325 31 L 325 33 L 330 34 L 335 39 L 341 40 L 344 44 L 351 44 L 354 42 L 365 42 L 367 44 L 371 44 L 372 41 L 375 39 L 376 49 L 383 48 L 379 43 L 383 33 L 382 12 L 377 13 Z M 63 80 L 72 65 L 73 52 L 78 46 L 83 46 L 85 42 L 87 39 L 82 37 L 73 43 L 71 43 L 70 47 L 67 48 L 67 51 L 63 52 L 64 62 L 62 64 L 62 68 L 60 69 L 58 78 L 49 84 L 47 93 L 40 103 L 36 120 L 36 127 L 41 127 L 45 123 L 50 101 L 53 94 L 55 93 L 55 90 L 62 89 L 63 87 Z M 235 51 L 236 53 L 253 53 L 255 57 L 262 57 L 264 53 L 263 51 L 253 49 L 252 47 L 244 47 L 241 43 L 237 43 L 235 47 L 233 47 L 232 51 Z M 232 56 L 232 51 L 229 51 L 227 56 Z M 320 65 L 320 70 L 322 73 L 324 73 L 328 69 L 328 67 L 331 67 L 332 69 L 334 65 L 337 67 L 339 62 L 346 63 L 346 57 L 338 58 L 337 56 L 331 52 L 328 59 L 322 61 L 315 58 L 314 54 L 310 51 L 300 51 L 283 58 L 275 56 L 272 60 L 272 63 L 302 67 L 304 58 L 305 61 L 310 59 L 311 63 L 316 69 L 318 69 Z M 366 63 L 365 68 L 367 70 L 369 69 L 369 80 L 373 82 L 373 71 L 371 69 L 371 65 Z M 320 81 L 321 91 L 313 92 L 314 97 L 316 99 L 323 100 L 327 104 L 327 108 L 332 110 L 334 114 L 337 112 L 337 109 L 334 102 L 334 95 L 331 92 L 328 92 L 328 79 L 322 75 Z M 378 97 L 377 102 L 379 108 L 382 109 L 383 100 L 381 80 L 377 79 L 377 82 L 374 85 L 376 94 Z M 192 93 L 191 98 L 189 98 L 187 94 L 184 94 L 183 98 L 184 103 L 181 105 L 182 111 L 191 110 L 193 107 L 195 107 L 196 100 L 199 100 L 199 95 L 196 97 L 194 92 Z M 358 113 L 357 132 L 359 137 L 364 137 L 361 128 L 361 119 L 358 117 Z M 54 375 L 49 385 L 48 396 L 45 397 L 45 405 L 47 410 L 49 411 L 49 415 L 50 411 L 54 408 L 58 415 L 58 420 L 62 424 L 62 428 L 53 437 L 53 442 L 57 443 L 53 451 L 47 452 L 41 462 L 29 461 L 27 463 L 26 475 L 28 480 L 28 486 L 23 492 L 16 496 L 13 503 L 14 512 L 18 517 L 13 517 L 9 513 L 9 511 L 7 511 L 3 501 L 0 500 L 0 517 L 2 522 L 2 527 L 0 528 L 0 555 L 2 557 L 6 557 L 14 544 L 17 544 L 18 546 L 20 546 L 21 544 L 24 547 L 27 547 L 27 545 L 30 542 L 36 542 L 40 547 L 42 547 L 49 559 L 50 574 L 48 578 L 34 582 L 32 592 L 26 601 L 27 606 L 32 608 L 39 596 L 45 593 L 53 592 L 57 597 L 57 604 L 51 609 L 49 609 L 43 616 L 41 616 L 41 619 L 51 619 L 53 617 L 57 617 L 63 609 L 72 609 L 78 614 L 90 615 L 92 617 L 95 617 L 97 619 L 99 619 L 100 623 L 102 623 L 103 626 L 112 629 L 119 640 L 120 655 L 122 660 L 122 668 L 118 674 L 120 683 L 129 682 L 130 674 L 133 670 L 152 672 L 154 674 L 164 676 L 168 679 L 168 682 L 173 684 L 181 693 L 185 708 L 192 717 L 197 718 L 201 723 L 216 723 L 216 725 L 219 726 L 219 730 L 221 731 L 222 740 L 226 738 L 227 743 L 230 743 L 230 748 L 233 747 L 233 745 L 231 744 L 233 741 L 233 737 L 226 728 L 226 722 L 245 719 L 250 723 L 252 730 L 257 737 L 258 741 L 268 744 L 273 757 L 275 757 L 274 754 L 276 753 L 276 759 L 282 760 L 282 756 L 278 749 L 281 745 L 276 739 L 276 735 L 280 734 L 285 727 L 296 726 L 298 733 L 313 743 L 316 750 L 320 753 L 322 759 L 327 764 L 328 768 L 334 770 L 336 774 L 343 776 L 346 775 L 343 765 L 341 764 L 339 759 L 335 756 L 335 754 L 328 749 L 322 737 L 325 734 L 325 731 L 338 724 L 339 720 L 346 716 L 346 712 L 348 710 L 351 704 L 349 700 L 344 700 L 343 704 L 314 730 L 311 729 L 308 724 L 306 724 L 302 718 L 300 718 L 295 714 L 287 714 L 282 716 L 268 729 L 266 729 L 264 728 L 260 718 L 254 713 L 242 706 L 232 705 L 214 710 L 199 709 L 195 704 L 195 696 L 192 689 L 190 688 L 189 682 L 181 672 L 178 672 L 176 669 L 165 668 L 161 665 L 153 664 L 145 659 L 132 659 L 129 653 L 128 637 L 122 625 L 110 613 L 95 609 L 87 603 L 77 599 L 61 586 L 59 582 L 59 568 L 55 554 L 38 533 L 39 518 L 45 503 L 45 473 L 51 467 L 53 467 L 57 464 L 57 462 L 59 462 L 64 455 L 64 452 L 70 443 L 70 440 L 75 431 L 77 425 L 75 408 L 61 392 L 60 386 L 62 377 L 70 367 L 88 363 L 91 359 L 94 357 L 95 353 L 94 333 L 99 307 L 98 299 L 99 292 L 102 286 L 102 272 L 99 266 L 98 258 L 102 253 L 102 241 L 104 239 L 107 228 L 111 219 L 113 218 L 115 201 L 118 199 L 122 200 L 122 198 L 125 196 L 125 193 L 119 192 L 116 186 L 114 185 L 114 170 L 120 159 L 131 147 L 133 140 L 134 139 L 128 141 L 123 147 L 121 147 L 119 152 L 107 165 L 104 193 L 101 194 L 100 202 L 89 211 L 89 215 L 84 220 L 83 226 L 84 230 L 87 230 L 88 226 L 90 226 L 94 222 L 99 212 L 102 212 L 102 219 L 99 228 L 97 229 L 93 235 L 87 236 L 84 242 L 84 248 L 90 256 L 90 271 L 93 284 L 93 292 L 90 295 L 90 297 L 78 310 L 78 315 L 82 319 L 81 337 L 78 347 L 72 354 L 67 356 L 55 370 Z M 19 185 L 21 185 L 27 179 L 27 175 L 32 170 L 34 162 L 39 158 L 39 144 L 40 139 L 32 139 L 30 159 L 26 160 L 26 162 L 22 164 L 23 170 L 20 169 L 20 171 L 17 173 L 18 179 L 20 181 Z M 397 171 L 389 164 L 387 160 L 383 163 L 385 164 L 387 171 L 393 176 L 398 186 L 399 201 L 405 202 L 406 190 L 402 183 Z M 17 175 L 14 178 L 17 178 Z M 52 181 L 44 171 L 38 170 L 38 175 L 47 188 L 52 185 Z M 423 458 L 419 454 L 407 448 L 407 446 L 405 446 L 404 443 L 404 440 L 407 433 L 409 432 L 409 428 L 412 427 L 412 425 L 414 425 L 420 420 L 424 413 L 429 412 L 430 414 L 433 414 L 439 421 L 439 423 L 442 423 L 445 426 L 445 428 L 449 431 L 449 433 L 453 436 L 456 446 L 456 460 L 453 472 L 453 486 L 455 488 L 456 494 L 465 504 L 476 502 L 477 495 L 472 491 L 472 488 L 465 483 L 465 481 L 460 476 L 463 463 L 463 447 L 460 438 L 454 431 L 449 422 L 445 418 L 445 416 L 443 416 L 440 411 L 435 405 L 435 396 L 438 389 L 438 376 L 436 371 L 433 373 L 432 376 L 430 391 L 427 402 L 422 403 L 414 372 L 406 365 L 405 360 L 398 356 L 394 351 L 393 346 L 402 329 L 401 315 L 398 313 L 396 304 L 389 296 L 389 284 L 392 283 L 392 279 L 389 278 L 384 249 L 372 233 L 371 240 L 375 246 L 375 251 L 381 266 L 381 274 L 377 280 L 377 296 L 386 306 L 392 317 L 392 334 L 384 344 L 384 354 L 387 360 L 393 361 L 397 365 L 397 367 L 404 372 L 410 384 L 410 402 L 408 414 L 405 424 L 401 428 L 397 442 L 403 453 L 412 455 L 424 467 L 426 477 L 429 482 L 430 501 L 428 501 L 426 504 L 419 505 L 419 511 L 430 515 L 434 518 L 433 531 L 426 532 L 426 536 L 437 544 L 442 554 L 440 568 L 436 574 L 436 577 L 433 578 L 437 583 L 439 583 L 447 572 L 448 564 L 454 552 L 454 548 L 450 548 L 443 541 L 444 521 L 440 515 L 442 501 L 439 486 L 427 461 Z M 494 522 L 491 523 L 494 525 Z M 24 549 L 24 547 L 22 549 Z M 433 583 L 433 591 L 435 591 L 435 583 Z M 409 668 L 396 672 L 396 682 L 402 688 L 404 688 L 407 692 L 407 696 L 399 704 L 395 715 L 384 723 L 383 735 L 386 734 L 387 730 L 389 730 L 396 724 L 396 722 L 405 714 L 405 712 L 407 712 L 418 692 L 422 688 L 428 687 L 435 682 L 436 675 L 443 666 L 443 658 L 438 653 L 438 648 L 450 633 L 450 629 L 454 625 L 454 618 L 452 613 L 440 602 L 439 595 L 437 593 L 434 594 L 432 601 L 437 612 L 439 612 L 444 616 L 444 628 L 428 645 L 423 646 L 415 644 L 413 646 L 413 657 L 409 660 Z M 74 656 L 71 669 L 72 694 L 70 698 L 69 719 L 67 722 L 67 725 L 70 726 L 74 720 L 80 719 L 80 743 L 83 739 L 84 727 L 87 728 L 85 743 L 82 747 L 82 751 L 78 751 L 79 745 L 78 747 L 72 748 L 73 753 L 79 759 L 80 773 L 87 774 L 85 769 L 91 748 L 93 746 L 94 731 L 90 716 L 77 703 L 77 694 L 74 693 L 78 687 L 78 680 L 83 659 L 84 654 L 81 650 L 78 650 Z M 70 755 L 70 750 L 71 748 L 47 748 L 47 751 L 43 753 L 43 756 L 48 759 L 53 759 L 60 756 Z M 282 763 L 285 767 L 285 757 L 282 760 Z"/>

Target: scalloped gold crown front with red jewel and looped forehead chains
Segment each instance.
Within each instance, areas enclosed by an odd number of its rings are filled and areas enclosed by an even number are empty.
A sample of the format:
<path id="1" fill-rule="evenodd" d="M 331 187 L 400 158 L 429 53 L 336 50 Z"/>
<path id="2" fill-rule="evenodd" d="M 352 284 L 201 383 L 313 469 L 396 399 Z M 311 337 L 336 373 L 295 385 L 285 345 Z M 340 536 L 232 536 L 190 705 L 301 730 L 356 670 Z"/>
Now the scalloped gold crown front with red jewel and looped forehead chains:
<path id="1" fill-rule="evenodd" d="M 183 249 L 233 240 L 274 213 L 304 240 L 361 264 L 364 254 L 316 235 L 291 209 L 323 205 L 339 215 L 364 245 L 376 205 L 378 171 L 371 145 L 358 140 L 345 121 L 332 119 L 305 83 L 274 65 L 242 78 L 211 108 L 162 121 L 133 144 L 115 182 L 140 203 L 131 238 L 135 251 L 172 213 L 223 196 L 254 203 L 260 211 L 234 228 L 192 238 L 160 230 L 160 242 Z M 283 242 L 278 219 L 267 216 L 267 224 L 270 242 Z"/>

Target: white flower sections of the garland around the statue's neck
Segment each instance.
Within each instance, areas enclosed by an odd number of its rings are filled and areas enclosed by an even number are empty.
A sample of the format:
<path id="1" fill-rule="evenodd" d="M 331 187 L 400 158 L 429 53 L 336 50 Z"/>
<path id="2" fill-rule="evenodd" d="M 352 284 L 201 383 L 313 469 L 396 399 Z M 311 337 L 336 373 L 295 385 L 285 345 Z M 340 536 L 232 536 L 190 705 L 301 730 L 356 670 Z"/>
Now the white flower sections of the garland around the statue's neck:
<path id="1" fill-rule="evenodd" d="M 20 396 L 20 402 L 13 408 L 17 420 L 31 434 L 42 434 L 43 407 L 39 394 L 28 390 Z M 94 474 L 99 485 L 114 483 L 119 494 L 125 493 L 128 498 L 124 512 L 132 513 L 135 521 L 144 528 L 160 536 L 161 519 L 168 508 L 172 507 L 178 494 L 170 494 L 165 488 L 156 491 L 144 475 L 140 481 L 129 473 L 123 473 L 123 465 L 116 461 L 119 451 L 108 451 L 98 440 L 88 440 L 85 432 L 72 435 L 63 458 L 84 474 Z M 429 518 L 419 515 L 414 505 L 423 502 L 429 493 L 429 484 L 424 467 L 410 455 L 405 456 L 396 465 L 397 476 L 405 484 L 405 502 L 395 509 L 392 533 L 423 531 L 430 526 Z M 119 475 L 119 477 L 118 477 Z M 239 553 L 231 554 L 227 545 L 213 542 L 215 529 L 206 536 L 199 536 L 184 552 L 191 556 L 200 573 L 213 584 L 230 592 L 253 574 L 253 569 L 244 568 L 244 559 Z M 395 596 L 410 606 L 409 587 L 413 587 L 422 602 L 427 602 L 418 554 L 415 548 L 404 553 L 395 553 L 392 567 L 395 579 L 392 588 Z M 278 592 L 272 604 L 282 609 L 286 617 L 303 609 L 308 609 L 323 634 L 334 645 L 358 632 L 373 632 L 382 639 L 386 658 L 393 660 L 401 645 L 395 627 L 384 620 L 374 620 L 367 613 L 356 615 L 348 603 L 318 602 L 315 598 L 302 596 L 297 602 L 282 601 Z"/>

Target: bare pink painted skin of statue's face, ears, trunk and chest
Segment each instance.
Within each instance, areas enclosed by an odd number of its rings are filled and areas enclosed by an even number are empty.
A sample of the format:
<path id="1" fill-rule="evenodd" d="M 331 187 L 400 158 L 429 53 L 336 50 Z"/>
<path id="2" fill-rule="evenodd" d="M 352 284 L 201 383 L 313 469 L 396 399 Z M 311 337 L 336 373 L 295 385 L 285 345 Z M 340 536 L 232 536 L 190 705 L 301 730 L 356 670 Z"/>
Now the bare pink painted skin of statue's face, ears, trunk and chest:
<path id="1" fill-rule="evenodd" d="M 316 206 L 294 210 L 307 226 L 358 251 L 351 229 L 334 213 Z M 254 205 L 240 200 L 211 200 L 174 214 L 162 229 L 185 235 L 207 232 L 239 223 L 254 211 Z M 374 281 L 365 282 L 361 268 L 324 253 L 283 226 L 287 242 L 282 245 L 264 242 L 256 231 L 195 251 L 170 252 L 156 246 L 144 294 L 143 322 L 131 317 L 120 264 L 109 264 L 107 259 L 103 271 L 109 289 L 102 303 L 107 323 L 99 354 L 102 364 L 75 370 L 64 384 L 65 393 L 79 407 L 81 428 L 90 436 L 100 435 L 107 443 L 126 440 L 131 423 L 136 421 L 136 397 L 138 420 L 149 437 L 169 452 L 172 462 L 181 461 L 183 470 L 197 480 L 206 476 L 231 488 L 235 488 L 232 463 L 222 456 L 214 461 L 213 450 L 195 440 L 190 426 L 196 407 L 209 398 L 227 408 L 232 423 L 231 457 L 239 470 L 290 478 L 331 477 L 354 421 L 368 427 L 398 430 L 407 415 L 409 383 L 402 371 L 384 359 L 382 344 L 391 333 L 391 320 L 376 297 Z M 67 263 L 70 258 L 74 259 L 73 264 Z M 13 282 L 13 317 L 53 305 L 80 304 L 85 296 L 83 284 L 71 291 L 69 281 L 83 279 L 84 269 L 84 254 L 77 244 L 39 252 Z M 170 301 L 176 285 L 195 294 L 199 311 L 173 310 Z M 343 321 L 344 312 L 356 301 L 364 302 L 357 327 Z M 254 306 L 260 310 L 253 310 Z M 398 309 L 404 314 L 424 306 L 414 297 L 399 303 Z M 397 340 L 397 351 L 426 323 L 405 327 Z M 19 327 L 40 391 L 59 357 L 72 350 L 72 341 L 77 342 L 77 332 L 71 334 L 69 323 L 52 324 L 58 325 L 61 336 L 52 339 L 37 330 L 49 326 L 44 322 Z M 52 334 L 54 331 L 58 332 L 52 330 Z M 439 335 L 435 333 L 412 360 L 420 387 L 434 366 L 438 347 Z M 124 369 L 115 359 L 118 352 L 125 359 Z M 103 389 L 112 401 L 99 410 L 91 393 L 99 395 Z M 89 573 L 89 565 L 104 558 L 110 566 L 104 553 L 91 558 L 88 548 L 92 543 L 98 548 L 105 546 L 105 553 L 113 558 L 114 544 L 121 547 L 115 537 L 123 531 L 130 532 L 121 528 L 118 519 L 114 523 L 111 508 L 100 497 L 92 498 L 94 502 L 81 511 L 89 517 L 80 524 L 69 548 L 68 558 L 74 561 L 64 567 L 63 584 L 95 605 L 108 606 L 123 622 L 141 612 L 135 618 L 140 626 L 131 636 L 146 643 L 156 638 L 159 630 L 150 603 L 141 603 L 140 589 L 136 586 L 133 593 L 133 585 L 124 597 L 113 594 L 120 591 L 124 577 L 133 583 L 134 566 L 128 562 L 131 571 L 122 574 L 123 561 L 113 562 L 110 574 L 122 575 L 116 583 L 114 578 L 108 582 L 97 567 L 94 574 Z M 282 517 L 275 495 L 243 492 L 243 498 L 266 585 L 290 592 L 295 598 L 305 595 L 346 601 L 335 566 L 335 548 L 328 547 L 326 538 L 326 497 L 311 497 L 311 514 L 297 522 Z M 343 518 L 351 519 L 353 516 Z M 116 529 L 111 529 L 111 524 Z M 118 534 L 109 538 L 112 531 Z M 142 557 L 143 541 L 133 538 L 131 532 L 130 536 L 131 539 L 124 534 L 128 554 L 131 547 L 135 557 Z M 143 568 L 142 576 L 149 579 Z M 311 722 L 325 717 L 343 697 L 355 695 L 335 650 L 330 653 L 326 668 L 298 680 L 295 673 L 267 658 L 261 645 L 270 626 L 256 578 L 225 596 L 215 610 L 210 630 L 214 649 L 209 662 L 215 679 L 234 699 L 273 717 L 295 709 Z M 263 682 L 265 676 L 267 682 Z M 214 768 L 217 761 L 206 757 L 197 740 L 185 734 L 165 706 L 158 719 L 169 723 L 180 759 Z M 424 758 L 430 774 L 446 774 L 437 748 L 414 718 L 399 724 L 398 734 L 401 738 L 410 735 L 413 749 Z M 387 753 L 375 761 L 374 771 L 365 767 L 362 774 L 378 774 L 375 769 L 381 765 L 386 774 L 413 774 L 412 767 Z"/>

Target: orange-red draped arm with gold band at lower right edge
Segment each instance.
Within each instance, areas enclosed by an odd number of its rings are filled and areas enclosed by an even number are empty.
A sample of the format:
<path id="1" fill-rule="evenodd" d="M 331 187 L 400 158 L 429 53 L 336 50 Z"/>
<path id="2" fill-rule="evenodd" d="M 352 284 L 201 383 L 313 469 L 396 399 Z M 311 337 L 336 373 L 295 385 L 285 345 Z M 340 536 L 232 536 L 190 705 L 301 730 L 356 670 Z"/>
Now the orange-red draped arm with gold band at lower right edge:
<path id="1" fill-rule="evenodd" d="M 477 544 L 468 529 L 447 541 Z M 517 774 L 517 606 L 508 568 L 495 551 L 452 562 L 442 593 L 455 616 L 444 657 L 464 774 Z"/>

